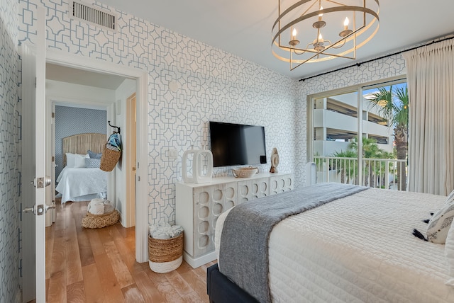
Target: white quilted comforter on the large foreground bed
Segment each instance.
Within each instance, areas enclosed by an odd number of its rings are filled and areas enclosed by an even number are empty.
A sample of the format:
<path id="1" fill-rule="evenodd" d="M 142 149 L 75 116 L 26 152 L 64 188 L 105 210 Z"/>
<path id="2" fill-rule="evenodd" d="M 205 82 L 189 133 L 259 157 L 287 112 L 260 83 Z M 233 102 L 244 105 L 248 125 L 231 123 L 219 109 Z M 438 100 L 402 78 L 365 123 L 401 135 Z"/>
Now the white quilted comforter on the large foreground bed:
<path id="1" fill-rule="evenodd" d="M 445 246 L 411 234 L 444 200 L 371 188 L 284 219 L 270 234 L 273 302 L 454 302 Z"/>

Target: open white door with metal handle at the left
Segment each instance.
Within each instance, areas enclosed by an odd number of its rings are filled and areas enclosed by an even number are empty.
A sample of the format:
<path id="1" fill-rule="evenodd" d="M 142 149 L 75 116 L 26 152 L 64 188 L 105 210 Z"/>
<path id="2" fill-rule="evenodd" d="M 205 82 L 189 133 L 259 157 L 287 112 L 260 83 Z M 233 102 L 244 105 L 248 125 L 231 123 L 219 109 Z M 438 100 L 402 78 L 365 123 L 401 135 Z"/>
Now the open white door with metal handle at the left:
<path id="1" fill-rule="evenodd" d="M 38 40 L 23 56 L 23 302 L 45 302 L 45 13 L 38 10 Z M 35 187 L 33 188 L 33 185 Z M 48 191 L 48 190 L 47 190 Z M 48 191 L 49 192 L 49 191 Z M 33 241 L 34 240 L 34 241 Z"/>

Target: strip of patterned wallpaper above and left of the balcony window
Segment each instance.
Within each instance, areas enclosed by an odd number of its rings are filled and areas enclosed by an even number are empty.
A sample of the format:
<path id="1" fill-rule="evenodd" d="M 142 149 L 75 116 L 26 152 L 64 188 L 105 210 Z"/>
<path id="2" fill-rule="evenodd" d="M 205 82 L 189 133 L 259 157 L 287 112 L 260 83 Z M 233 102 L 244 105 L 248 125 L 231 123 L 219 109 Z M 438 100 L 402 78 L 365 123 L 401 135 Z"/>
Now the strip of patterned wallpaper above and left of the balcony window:
<path id="1" fill-rule="evenodd" d="M 391 55 L 372 62 L 360 64 L 359 67 L 349 67 L 339 72 L 333 72 L 318 76 L 316 78 L 300 81 L 297 86 L 297 120 L 295 133 L 295 159 L 300 159 L 301 163 L 295 165 L 295 178 L 305 182 L 306 178 L 306 159 L 307 159 L 307 96 L 314 93 L 323 93 L 338 88 L 353 85 L 365 84 L 367 82 L 379 81 L 393 76 L 406 74 L 405 61 L 402 55 Z"/>

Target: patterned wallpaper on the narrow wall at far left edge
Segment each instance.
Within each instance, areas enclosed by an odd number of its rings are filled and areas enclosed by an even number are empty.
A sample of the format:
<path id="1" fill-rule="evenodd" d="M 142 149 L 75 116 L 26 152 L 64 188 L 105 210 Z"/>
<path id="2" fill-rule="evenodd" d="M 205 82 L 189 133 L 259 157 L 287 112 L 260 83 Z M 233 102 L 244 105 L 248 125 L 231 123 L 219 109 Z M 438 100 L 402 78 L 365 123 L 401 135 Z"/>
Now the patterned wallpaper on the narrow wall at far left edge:
<path id="1" fill-rule="evenodd" d="M 17 8 L 17 1 L 0 0 L 0 302 L 15 302 L 19 291 L 21 62 Z"/>

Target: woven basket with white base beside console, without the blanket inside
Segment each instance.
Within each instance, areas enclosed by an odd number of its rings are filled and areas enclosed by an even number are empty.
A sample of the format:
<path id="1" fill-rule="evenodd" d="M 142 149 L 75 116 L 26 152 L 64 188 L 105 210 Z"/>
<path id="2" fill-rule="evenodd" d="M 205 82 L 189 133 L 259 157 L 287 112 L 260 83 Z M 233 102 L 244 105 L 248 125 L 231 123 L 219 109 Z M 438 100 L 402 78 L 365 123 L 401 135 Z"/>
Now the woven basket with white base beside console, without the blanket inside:
<path id="1" fill-rule="evenodd" d="M 148 236 L 148 258 L 155 273 L 168 273 L 179 268 L 183 256 L 183 232 L 175 238 L 155 239 Z"/>

